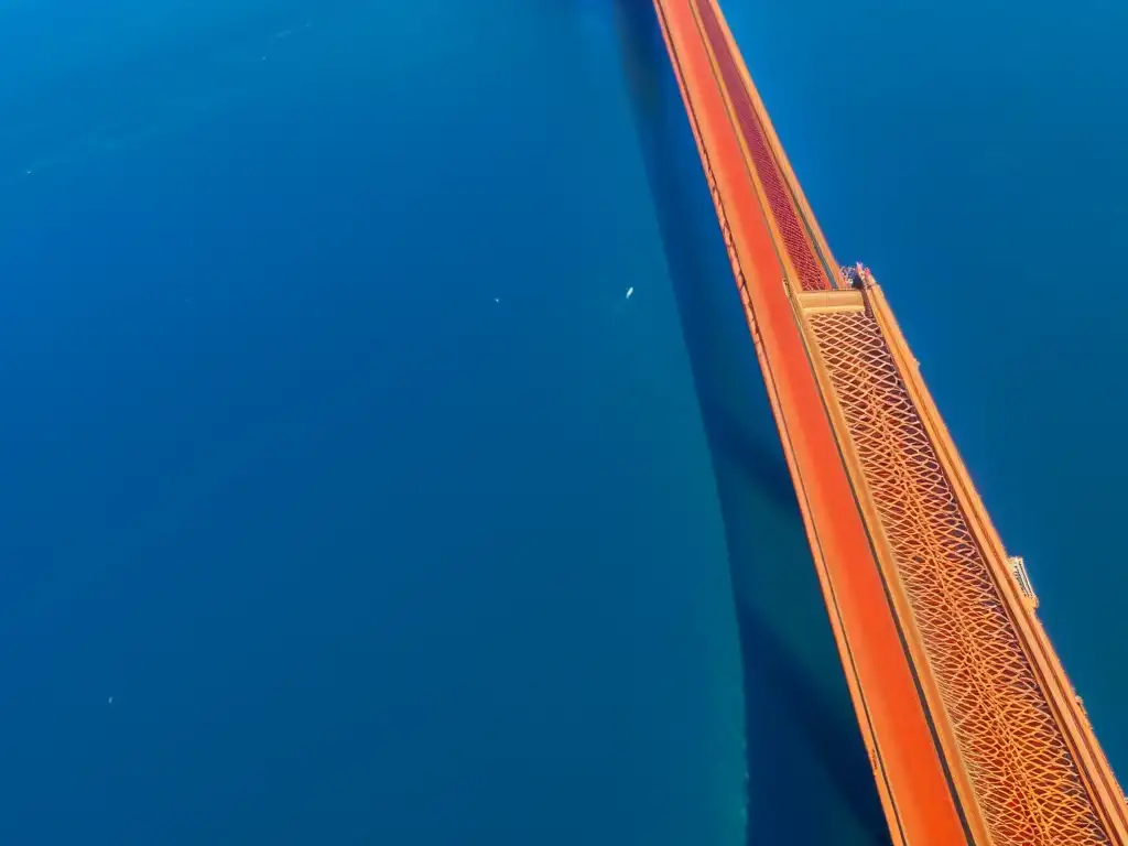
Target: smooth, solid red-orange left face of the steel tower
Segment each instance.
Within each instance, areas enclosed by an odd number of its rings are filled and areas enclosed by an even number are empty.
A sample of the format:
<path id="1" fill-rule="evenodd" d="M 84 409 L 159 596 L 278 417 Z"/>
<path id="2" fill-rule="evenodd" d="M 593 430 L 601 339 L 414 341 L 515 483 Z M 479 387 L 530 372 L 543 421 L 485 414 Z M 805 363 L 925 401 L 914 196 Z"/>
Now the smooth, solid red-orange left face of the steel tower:
<path id="1" fill-rule="evenodd" d="M 922 705 L 896 614 L 838 448 L 787 293 L 785 266 L 730 117 L 695 0 L 654 0 L 725 232 L 733 271 L 796 479 L 851 694 L 898 843 L 967 844 L 973 832 L 954 796 Z M 796 276 L 792 276 L 795 279 Z M 827 285 L 829 287 L 829 285 Z"/>

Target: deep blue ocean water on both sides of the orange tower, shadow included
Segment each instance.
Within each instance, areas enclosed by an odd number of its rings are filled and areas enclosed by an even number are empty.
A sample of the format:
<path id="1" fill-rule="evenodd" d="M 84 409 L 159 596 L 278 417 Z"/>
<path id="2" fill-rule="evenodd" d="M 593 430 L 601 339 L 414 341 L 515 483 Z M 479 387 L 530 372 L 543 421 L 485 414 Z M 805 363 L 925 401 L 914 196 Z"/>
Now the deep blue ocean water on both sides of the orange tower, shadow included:
<path id="1" fill-rule="evenodd" d="M 1125 770 L 1128 18 L 769 7 Z M 656 47 L 631 0 L 0 9 L 0 838 L 882 841 Z"/>

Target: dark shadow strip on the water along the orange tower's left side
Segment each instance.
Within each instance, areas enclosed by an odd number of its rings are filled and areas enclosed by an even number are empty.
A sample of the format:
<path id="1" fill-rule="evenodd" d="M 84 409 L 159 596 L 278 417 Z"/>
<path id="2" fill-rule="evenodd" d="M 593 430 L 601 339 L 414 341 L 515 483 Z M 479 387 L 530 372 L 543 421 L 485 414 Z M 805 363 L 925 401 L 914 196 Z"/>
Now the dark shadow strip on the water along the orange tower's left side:
<path id="1" fill-rule="evenodd" d="M 889 844 L 794 488 L 651 0 L 616 0 L 713 460 L 741 641 L 748 844 Z"/>

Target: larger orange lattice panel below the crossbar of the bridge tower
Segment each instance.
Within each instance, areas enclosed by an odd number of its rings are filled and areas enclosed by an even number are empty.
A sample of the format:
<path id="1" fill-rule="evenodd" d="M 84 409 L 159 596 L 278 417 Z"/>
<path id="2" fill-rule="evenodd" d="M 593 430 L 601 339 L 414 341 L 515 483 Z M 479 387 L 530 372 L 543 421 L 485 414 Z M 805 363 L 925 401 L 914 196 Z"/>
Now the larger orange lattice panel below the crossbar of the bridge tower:
<path id="1" fill-rule="evenodd" d="M 1110 843 L 878 321 L 808 320 L 993 841 Z"/>

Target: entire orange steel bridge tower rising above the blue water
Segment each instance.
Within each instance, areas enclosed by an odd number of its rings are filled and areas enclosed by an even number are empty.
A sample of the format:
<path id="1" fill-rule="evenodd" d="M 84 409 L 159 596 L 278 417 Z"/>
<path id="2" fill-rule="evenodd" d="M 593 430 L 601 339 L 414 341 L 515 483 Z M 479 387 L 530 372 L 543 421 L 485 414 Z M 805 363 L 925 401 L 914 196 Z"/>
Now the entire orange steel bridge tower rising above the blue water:
<path id="1" fill-rule="evenodd" d="M 1117 844 L 1128 805 L 892 311 L 839 272 L 716 0 L 653 0 L 897 844 Z"/>

